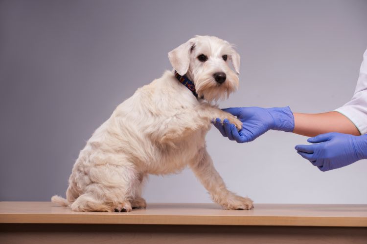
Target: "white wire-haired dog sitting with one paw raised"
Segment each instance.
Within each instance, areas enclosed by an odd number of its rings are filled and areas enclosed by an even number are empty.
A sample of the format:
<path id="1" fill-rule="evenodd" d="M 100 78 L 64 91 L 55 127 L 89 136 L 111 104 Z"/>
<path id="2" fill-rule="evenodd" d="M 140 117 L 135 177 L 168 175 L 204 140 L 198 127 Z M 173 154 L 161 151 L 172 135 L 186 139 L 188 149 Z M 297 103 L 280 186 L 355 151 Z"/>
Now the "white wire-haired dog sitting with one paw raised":
<path id="1" fill-rule="evenodd" d="M 140 194 L 147 175 L 178 173 L 188 165 L 215 203 L 225 209 L 253 207 L 250 199 L 226 188 L 205 143 L 215 118 L 228 119 L 238 129 L 242 126 L 212 105 L 237 89 L 240 56 L 227 41 L 196 36 L 168 57 L 177 72 L 166 71 L 117 106 L 80 152 L 67 199 L 53 196 L 53 203 L 73 211 L 145 208 Z"/>

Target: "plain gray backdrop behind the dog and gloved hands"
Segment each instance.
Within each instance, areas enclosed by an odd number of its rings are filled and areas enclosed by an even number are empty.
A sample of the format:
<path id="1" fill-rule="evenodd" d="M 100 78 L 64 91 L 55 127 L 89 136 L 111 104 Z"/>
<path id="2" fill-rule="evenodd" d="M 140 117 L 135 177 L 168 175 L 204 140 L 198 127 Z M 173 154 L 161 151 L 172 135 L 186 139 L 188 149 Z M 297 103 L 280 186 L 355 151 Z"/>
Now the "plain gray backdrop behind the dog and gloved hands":
<path id="1" fill-rule="evenodd" d="M 366 0 L 0 1 L 0 200 L 65 196 L 72 165 L 115 106 L 171 69 L 194 35 L 235 43 L 241 85 L 222 107 L 333 110 L 353 95 L 367 47 Z M 255 203 L 367 203 L 367 162 L 321 172 L 271 131 L 208 151 Z M 150 177 L 148 202 L 210 202 L 189 170 Z"/>

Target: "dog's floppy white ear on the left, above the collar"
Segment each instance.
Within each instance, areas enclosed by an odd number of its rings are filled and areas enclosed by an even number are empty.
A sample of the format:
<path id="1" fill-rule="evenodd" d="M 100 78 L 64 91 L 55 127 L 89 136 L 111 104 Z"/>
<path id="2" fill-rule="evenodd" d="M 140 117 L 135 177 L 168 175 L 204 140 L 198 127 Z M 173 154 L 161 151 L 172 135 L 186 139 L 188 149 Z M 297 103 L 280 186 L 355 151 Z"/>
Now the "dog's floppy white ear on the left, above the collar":
<path id="1" fill-rule="evenodd" d="M 181 76 L 187 73 L 190 64 L 191 48 L 194 45 L 194 39 L 190 39 L 168 53 L 168 59 L 171 62 L 172 67 Z"/>

